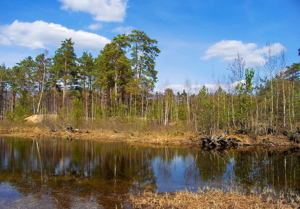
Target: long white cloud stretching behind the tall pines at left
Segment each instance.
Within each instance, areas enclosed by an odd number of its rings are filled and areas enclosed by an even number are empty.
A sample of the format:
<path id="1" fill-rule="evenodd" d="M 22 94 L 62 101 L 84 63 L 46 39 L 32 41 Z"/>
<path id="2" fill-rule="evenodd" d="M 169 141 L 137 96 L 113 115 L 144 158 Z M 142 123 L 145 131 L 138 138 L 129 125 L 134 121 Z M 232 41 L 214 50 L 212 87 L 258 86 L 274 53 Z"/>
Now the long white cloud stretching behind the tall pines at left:
<path id="1" fill-rule="evenodd" d="M 0 43 L 3 45 L 26 46 L 30 49 L 44 49 L 47 46 L 58 47 L 61 41 L 72 38 L 74 47 L 81 50 L 99 50 L 110 40 L 106 37 L 86 31 L 75 31 L 59 24 L 43 21 L 20 22 L 0 26 Z"/>

